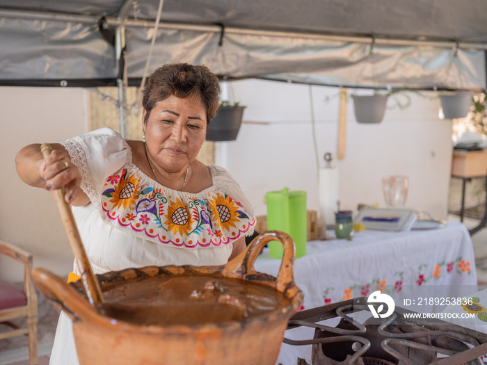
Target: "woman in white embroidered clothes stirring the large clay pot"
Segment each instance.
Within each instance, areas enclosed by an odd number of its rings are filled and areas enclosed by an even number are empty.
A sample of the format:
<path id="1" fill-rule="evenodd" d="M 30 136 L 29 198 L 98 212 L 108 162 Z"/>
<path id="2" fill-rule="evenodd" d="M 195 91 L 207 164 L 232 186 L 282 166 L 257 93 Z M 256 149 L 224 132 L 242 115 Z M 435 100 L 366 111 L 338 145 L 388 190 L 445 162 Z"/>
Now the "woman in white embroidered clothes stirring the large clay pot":
<path id="1" fill-rule="evenodd" d="M 255 226 L 253 207 L 226 170 L 195 160 L 219 92 L 207 67 L 165 65 L 143 90 L 145 142 L 104 128 L 51 144 L 47 161 L 40 145 L 19 151 L 17 172 L 26 184 L 65 187 L 95 274 L 222 265 L 245 249 Z M 63 313 L 49 364 L 78 364 Z"/>

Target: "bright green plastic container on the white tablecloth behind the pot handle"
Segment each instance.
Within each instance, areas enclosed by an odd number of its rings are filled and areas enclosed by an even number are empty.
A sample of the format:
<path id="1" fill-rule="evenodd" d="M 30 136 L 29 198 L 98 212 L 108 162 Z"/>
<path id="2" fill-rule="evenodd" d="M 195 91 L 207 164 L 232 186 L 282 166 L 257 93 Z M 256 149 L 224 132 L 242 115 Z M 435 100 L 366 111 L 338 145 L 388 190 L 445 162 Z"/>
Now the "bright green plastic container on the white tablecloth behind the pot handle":
<path id="1" fill-rule="evenodd" d="M 289 234 L 296 245 L 296 258 L 306 254 L 308 235 L 308 211 L 306 210 L 306 192 L 284 188 L 281 191 L 266 193 L 267 229 Z M 282 243 L 269 242 L 269 254 L 282 259 Z"/>

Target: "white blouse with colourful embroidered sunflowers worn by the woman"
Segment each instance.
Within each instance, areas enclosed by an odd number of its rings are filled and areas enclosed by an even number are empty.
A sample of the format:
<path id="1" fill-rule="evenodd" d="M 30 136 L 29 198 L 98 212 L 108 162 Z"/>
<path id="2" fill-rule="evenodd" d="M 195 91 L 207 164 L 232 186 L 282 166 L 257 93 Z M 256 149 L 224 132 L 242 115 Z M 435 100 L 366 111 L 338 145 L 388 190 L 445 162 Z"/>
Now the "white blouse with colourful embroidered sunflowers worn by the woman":
<path id="1" fill-rule="evenodd" d="M 97 274 L 149 265 L 223 265 L 232 243 L 253 233 L 253 206 L 223 168 L 209 166 L 209 188 L 179 192 L 134 165 L 126 140 L 109 128 L 62 144 L 90 197 L 90 204 L 72 210 Z"/>

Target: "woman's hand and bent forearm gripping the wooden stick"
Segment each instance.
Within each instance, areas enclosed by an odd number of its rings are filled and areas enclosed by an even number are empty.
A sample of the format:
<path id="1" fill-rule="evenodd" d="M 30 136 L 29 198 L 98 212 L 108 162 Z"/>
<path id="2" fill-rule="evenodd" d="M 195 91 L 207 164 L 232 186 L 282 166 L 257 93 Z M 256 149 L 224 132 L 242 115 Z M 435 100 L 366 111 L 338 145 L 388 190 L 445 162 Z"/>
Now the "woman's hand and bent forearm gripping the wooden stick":
<path id="1" fill-rule="evenodd" d="M 53 191 L 63 187 L 64 199 L 68 204 L 82 206 L 90 202 L 88 195 L 81 190 L 81 174 L 71 162 L 65 148 L 57 143 L 51 144 L 52 151 L 45 160 L 40 145 L 29 145 L 19 151 L 15 158 L 17 173 L 22 181 L 31 186 Z"/>

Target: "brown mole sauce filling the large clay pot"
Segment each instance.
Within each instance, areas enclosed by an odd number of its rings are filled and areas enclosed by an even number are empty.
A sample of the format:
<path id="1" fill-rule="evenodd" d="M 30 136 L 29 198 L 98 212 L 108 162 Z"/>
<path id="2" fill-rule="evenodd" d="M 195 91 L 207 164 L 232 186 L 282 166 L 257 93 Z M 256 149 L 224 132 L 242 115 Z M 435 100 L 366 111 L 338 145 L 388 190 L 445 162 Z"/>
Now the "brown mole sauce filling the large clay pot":
<path id="1" fill-rule="evenodd" d="M 282 293 L 269 286 L 211 275 L 136 279 L 103 295 L 100 313 L 138 325 L 242 321 L 287 303 Z"/>

